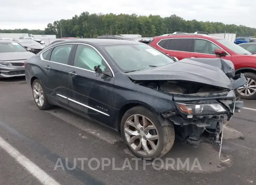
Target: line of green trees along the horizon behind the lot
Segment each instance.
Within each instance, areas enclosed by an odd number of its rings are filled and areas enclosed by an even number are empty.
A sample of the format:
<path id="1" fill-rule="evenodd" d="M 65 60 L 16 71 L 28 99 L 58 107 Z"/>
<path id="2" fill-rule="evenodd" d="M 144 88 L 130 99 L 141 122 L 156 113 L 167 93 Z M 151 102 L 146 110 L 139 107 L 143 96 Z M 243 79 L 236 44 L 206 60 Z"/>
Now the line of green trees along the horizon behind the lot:
<path id="1" fill-rule="evenodd" d="M 194 33 L 204 31 L 213 33 L 235 33 L 237 36 L 256 36 L 256 28 L 244 25 L 223 24 L 221 22 L 203 22 L 184 20 L 177 15 L 161 17 L 160 15 L 138 16 L 136 14 L 89 14 L 83 12 L 72 19 L 62 19 L 48 23 L 45 30 L 1 30 L 0 33 L 31 33 L 33 35 L 56 35 L 61 37 L 97 37 L 100 35 L 140 34 L 142 37 L 153 37 L 171 34 L 175 31 Z"/>

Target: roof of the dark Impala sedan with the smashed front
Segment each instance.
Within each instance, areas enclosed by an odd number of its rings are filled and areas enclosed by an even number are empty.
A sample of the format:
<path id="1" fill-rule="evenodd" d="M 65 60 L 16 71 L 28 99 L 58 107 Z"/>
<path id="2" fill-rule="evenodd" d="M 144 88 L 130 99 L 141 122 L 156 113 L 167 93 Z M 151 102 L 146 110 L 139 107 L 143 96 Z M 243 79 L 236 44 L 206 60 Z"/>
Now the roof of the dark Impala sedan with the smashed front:
<path id="1" fill-rule="evenodd" d="M 141 44 L 140 42 L 132 41 L 132 40 L 119 40 L 119 39 L 77 39 L 77 40 L 65 40 L 62 42 L 54 43 L 53 45 L 58 44 L 64 44 L 64 43 L 84 43 L 84 44 L 90 44 L 94 43 L 99 46 L 107 46 L 107 45 L 122 45 L 122 44 Z"/>

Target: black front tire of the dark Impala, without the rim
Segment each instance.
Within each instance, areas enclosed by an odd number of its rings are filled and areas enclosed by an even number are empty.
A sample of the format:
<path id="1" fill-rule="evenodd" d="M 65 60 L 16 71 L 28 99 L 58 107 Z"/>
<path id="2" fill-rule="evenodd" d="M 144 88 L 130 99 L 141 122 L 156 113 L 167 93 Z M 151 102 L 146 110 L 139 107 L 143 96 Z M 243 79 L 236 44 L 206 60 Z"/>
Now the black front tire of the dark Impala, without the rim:
<path id="1" fill-rule="evenodd" d="M 141 139 L 139 139 L 139 141 L 137 140 L 139 143 L 140 143 L 140 141 L 142 142 L 142 140 L 144 140 L 143 142 L 144 143 L 146 142 L 147 146 L 149 146 L 151 149 L 153 149 L 153 147 L 151 147 L 151 145 L 150 145 L 152 140 L 149 140 L 148 138 L 145 138 L 144 136 L 147 136 L 147 137 L 152 136 L 151 135 L 152 132 L 154 132 L 155 134 L 158 133 L 158 136 L 159 136 L 158 141 L 154 140 L 155 142 L 157 142 L 156 146 L 158 146 L 158 147 L 156 148 L 154 153 L 143 154 L 143 148 L 140 152 L 135 151 L 135 149 L 132 148 L 132 146 L 128 143 L 129 134 L 125 131 L 125 129 L 127 129 L 127 128 L 130 129 L 130 127 L 131 128 L 133 128 L 133 127 L 126 124 L 126 121 L 128 118 L 129 119 L 134 118 L 135 114 L 138 115 L 139 117 L 141 116 L 141 118 L 143 116 L 146 117 L 144 119 L 149 119 L 149 120 L 147 120 L 147 123 L 148 124 L 153 123 L 156 128 L 156 130 L 151 130 L 151 132 L 149 131 L 148 133 L 146 133 L 147 128 L 148 128 L 146 126 L 145 130 L 143 130 L 144 135 L 143 136 L 141 135 Z M 129 109 L 122 117 L 120 128 L 121 128 L 121 135 L 122 135 L 123 141 L 129 148 L 129 150 L 133 153 L 133 155 L 135 155 L 136 157 L 139 157 L 139 158 L 148 158 L 148 160 L 153 160 L 154 158 L 160 158 L 163 155 L 165 155 L 173 146 L 174 139 L 175 139 L 174 126 L 173 125 L 161 126 L 161 124 L 160 124 L 159 120 L 156 118 L 155 114 L 153 112 L 151 112 L 149 109 L 144 108 L 143 106 L 135 106 L 135 107 Z M 135 131 L 140 132 L 140 134 L 143 134 L 142 131 L 139 130 L 139 128 L 136 129 Z M 145 135 L 145 134 L 148 134 L 148 135 Z M 128 137 L 128 139 L 127 139 L 127 137 Z M 142 138 L 144 138 L 144 139 L 142 139 Z M 149 143 L 149 141 L 150 141 L 150 143 Z M 149 143 L 149 145 L 148 145 L 148 143 Z M 139 144 L 137 146 L 139 146 Z"/>

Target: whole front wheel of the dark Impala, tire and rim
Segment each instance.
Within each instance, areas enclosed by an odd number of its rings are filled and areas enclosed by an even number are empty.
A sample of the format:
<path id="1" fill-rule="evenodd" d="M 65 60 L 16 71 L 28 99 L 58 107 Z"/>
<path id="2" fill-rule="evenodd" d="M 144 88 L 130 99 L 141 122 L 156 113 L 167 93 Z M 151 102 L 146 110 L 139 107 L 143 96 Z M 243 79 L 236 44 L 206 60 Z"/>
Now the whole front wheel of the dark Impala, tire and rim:
<path id="1" fill-rule="evenodd" d="M 135 106 L 121 121 L 121 134 L 130 151 L 139 158 L 160 158 L 173 146 L 174 127 L 161 126 L 150 110 Z"/>

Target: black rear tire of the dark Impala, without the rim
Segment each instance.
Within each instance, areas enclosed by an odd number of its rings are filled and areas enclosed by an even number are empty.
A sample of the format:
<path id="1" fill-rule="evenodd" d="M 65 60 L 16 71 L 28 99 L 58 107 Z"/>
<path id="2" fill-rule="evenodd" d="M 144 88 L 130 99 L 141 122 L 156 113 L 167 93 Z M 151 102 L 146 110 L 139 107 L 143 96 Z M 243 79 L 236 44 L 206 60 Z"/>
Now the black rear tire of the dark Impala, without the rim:
<path id="1" fill-rule="evenodd" d="M 35 95 L 34 95 L 34 94 L 35 94 L 34 90 L 35 90 L 35 85 L 36 85 L 36 84 L 39 84 L 40 87 L 41 87 L 41 89 L 42 89 L 42 93 L 43 93 L 43 103 L 42 103 L 42 104 L 40 104 L 40 103 L 38 103 L 38 101 L 36 101 L 37 98 L 35 98 Z M 37 86 L 37 87 L 39 87 L 39 86 Z M 52 104 L 49 103 L 45 92 L 46 92 L 46 90 L 45 90 L 45 88 L 43 87 L 41 81 L 40 81 L 39 79 L 34 80 L 34 82 L 33 82 L 33 84 L 32 84 L 32 94 L 33 94 L 34 102 L 35 102 L 36 106 L 37 106 L 40 110 L 47 110 L 47 109 L 49 109 L 49 108 L 52 108 L 52 106 L 53 106 Z M 39 94 L 40 94 L 40 93 L 39 93 Z M 42 98 L 41 98 L 41 99 L 42 99 Z"/>

